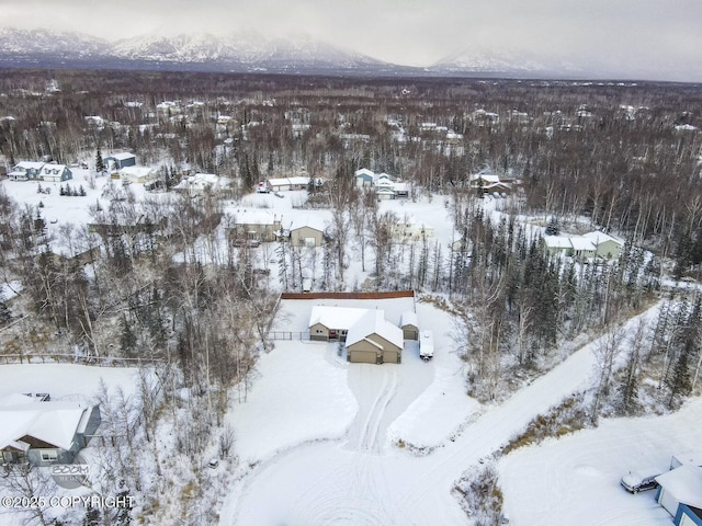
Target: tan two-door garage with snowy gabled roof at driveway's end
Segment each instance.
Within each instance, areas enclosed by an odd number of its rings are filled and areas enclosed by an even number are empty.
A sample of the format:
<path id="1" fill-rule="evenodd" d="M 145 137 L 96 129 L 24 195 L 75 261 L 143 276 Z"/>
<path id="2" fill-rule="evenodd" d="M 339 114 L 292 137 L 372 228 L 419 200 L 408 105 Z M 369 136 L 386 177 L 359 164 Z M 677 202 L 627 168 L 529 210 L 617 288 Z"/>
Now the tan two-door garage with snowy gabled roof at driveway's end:
<path id="1" fill-rule="evenodd" d="M 383 310 L 367 310 L 349 329 L 349 362 L 399 364 L 403 357 L 403 330 L 385 319 Z"/>

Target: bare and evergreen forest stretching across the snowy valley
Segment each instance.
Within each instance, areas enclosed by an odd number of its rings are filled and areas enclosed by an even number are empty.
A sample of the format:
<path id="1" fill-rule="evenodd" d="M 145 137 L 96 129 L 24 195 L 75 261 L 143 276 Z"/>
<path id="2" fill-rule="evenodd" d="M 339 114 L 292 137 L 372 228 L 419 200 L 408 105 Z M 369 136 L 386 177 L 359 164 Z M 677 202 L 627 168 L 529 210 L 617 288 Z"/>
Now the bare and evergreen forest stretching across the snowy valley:
<path id="1" fill-rule="evenodd" d="M 450 310 L 466 390 L 479 400 L 503 400 L 511 379 L 539 376 L 566 342 L 597 333 L 608 343 L 593 423 L 676 409 L 699 389 L 702 363 L 701 126 L 702 90 L 682 83 L 0 70 L 0 176 L 55 161 L 88 167 L 94 188 L 103 158 L 127 151 L 161 181 L 143 199 L 106 185 L 107 207 L 91 202 L 90 224 L 52 239 L 41 203 L 0 185 L 0 281 L 16 293 L 0 297 L 0 364 L 138 363 L 158 389 L 144 373 L 128 403 L 105 391 L 111 433 L 132 436 L 138 420 L 139 439 L 154 443 L 143 454 L 158 459 L 168 453 L 154 437 L 170 411 L 192 427 L 174 450 L 195 457 L 215 436 L 228 455 L 235 438 L 222 416 L 274 345 L 280 293 L 312 267 L 321 290 L 414 289 Z M 401 218 L 354 184 L 362 168 L 407 182 L 408 201 L 444 202 L 455 242 L 398 241 Z M 228 203 L 303 170 L 324 181 L 301 204 L 330 213 L 320 249 L 222 236 Z M 200 172 L 233 184 L 197 198 L 173 191 Z M 476 174 L 509 181 L 499 215 Z M 71 199 L 89 198 L 68 183 Z M 553 256 L 546 229 L 607 232 L 623 249 L 613 260 Z M 348 275 L 352 261 L 363 283 Z M 655 327 L 625 345 L 623 322 L 657 302 Z M 178 398 L 182 389 L 191 396 Z M 106 464 L 134 455 L 131 442 L 115 444 Z M 141 464 L 114 466 L 128 491 L 152 483 Z M 196 513 L 214 512 L 203 503 Z M 132 521 L 100 519 L 83 524 Z"/>

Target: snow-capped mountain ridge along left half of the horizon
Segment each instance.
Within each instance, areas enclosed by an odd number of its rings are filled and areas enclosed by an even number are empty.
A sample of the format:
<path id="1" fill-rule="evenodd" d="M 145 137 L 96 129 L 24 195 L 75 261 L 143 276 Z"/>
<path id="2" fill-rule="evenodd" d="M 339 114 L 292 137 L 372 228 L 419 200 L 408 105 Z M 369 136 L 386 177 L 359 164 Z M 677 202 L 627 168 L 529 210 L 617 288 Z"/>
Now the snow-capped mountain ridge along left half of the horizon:
<path id="1" fill-rule="evenodd" d="M 271 39 L 254 33 L 179 34 L 143 35 L 109 43 L 78 33 L 0 30 L 0 64 L 57 65 L 54 61 L 71 67 L 200 71 L 372 72 L 392 68 L 310 38 Z"/>

